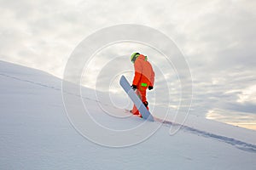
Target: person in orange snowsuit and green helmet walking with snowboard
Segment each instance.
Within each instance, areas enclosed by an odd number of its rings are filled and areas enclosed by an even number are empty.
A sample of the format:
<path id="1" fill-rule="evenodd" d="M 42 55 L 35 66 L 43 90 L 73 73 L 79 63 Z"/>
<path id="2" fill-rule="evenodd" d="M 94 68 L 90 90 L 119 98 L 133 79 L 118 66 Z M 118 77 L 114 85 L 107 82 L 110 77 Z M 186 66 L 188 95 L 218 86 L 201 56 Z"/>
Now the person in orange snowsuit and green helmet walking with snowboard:
<path id="1" fill-rule="evenodd" d="M 146 98 L 147 89 L 152 90 L 154 87 L 154 70 L 148 62 L 147 56 L 139 53 L 131 55 L 131 62 L 134 64 L 134 78 L 131 88 L 133 88 L 143 104 L 148 109 L 148 101 Z M 134 105 L 130 111 L 133 115 L 141 116 L 137 107 Z"/>

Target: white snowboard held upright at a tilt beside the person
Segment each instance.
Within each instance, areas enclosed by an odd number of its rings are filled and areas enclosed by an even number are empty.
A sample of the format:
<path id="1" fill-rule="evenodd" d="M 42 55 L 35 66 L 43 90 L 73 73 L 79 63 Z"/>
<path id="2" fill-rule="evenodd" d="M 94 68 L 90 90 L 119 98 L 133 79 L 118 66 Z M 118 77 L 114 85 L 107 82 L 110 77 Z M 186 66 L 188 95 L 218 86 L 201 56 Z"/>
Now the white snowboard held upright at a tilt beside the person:
<path id="1" fill-rule="evenodd" d="M 136 105 L 137 110 L 140 112 L 140 114 L 143 116 L 143 118 L 150 122 L 154 122 L 154 117 L 147 110 L 147 108 L 143 104 L 142 100 L 138 98 L 137 94 L 135 94 L 134 90 L 131 88 L 131 85 L 127 81 L 125 76 L 122 76 L 120 78 L 119 84 L 122 88 L 124 88 L 125 93 L 128 94 L 131 101 L 134 103 L 134 105 Z"/>

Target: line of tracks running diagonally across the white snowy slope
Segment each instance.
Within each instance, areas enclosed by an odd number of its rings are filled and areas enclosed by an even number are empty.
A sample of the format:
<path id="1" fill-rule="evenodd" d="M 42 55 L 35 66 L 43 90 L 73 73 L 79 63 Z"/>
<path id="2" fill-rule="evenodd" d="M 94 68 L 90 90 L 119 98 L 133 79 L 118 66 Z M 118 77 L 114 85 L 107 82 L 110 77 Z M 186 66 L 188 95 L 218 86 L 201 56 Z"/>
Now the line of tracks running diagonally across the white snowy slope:
<path id="1" fill-rule="evenodd" d="M 30 81 L 30 80 L 26 80 L 26 79 L 22 79 L 22 78 L 19 78 L 19 77 L 10 76 L 10 75 L 3 74 L 3 73 L 0 73 L 0 76 L 8 77 L 8 78 L 11 78 L 11 79 L 15 79 L 16 81 L 20 81 L 20 82 L 32 83 L 34 85 L 41 86 L 41 87 L 44 87 L 44 88 L 52 88 L 54 90 L 61 91 L 61 88 L 55 88 L 54 86 L 49 86 L 49 85 L 41 83 L 41 82 L 33 82 L 33 81 Z M 66 92 L 66 91 L 64 91 L 64 93 L 72 94 L 72 93 L 69 93 L 69 92 Z M 78 96 L 78 97 L 82 97 L 82 96 L 77 95 L 77 94 L 72 94 L 72 95 L 75 95 L 75 96 Z M 99 100 L 96 100 L 96 99 L 90 99 L 88 97 L 82 97 L 82 98 L 101 103 Z M 108 105 L 108 104 L 102 104 L 102 105 Z M 108 105 L 108 106 L 114 107 L 113 105 Z M 116 107 L 114 107 L 114 108 L 116 108 Z M 206 131 L 202 131 L 200 129 L 196 129 L 194 127 L 189 127 L 189 126 L 181 125 L 181 124 L 178 124 L 178 123 L 175 123 L 175 122 L 161 120 L 160 118 L 156 118 L 156 117 L 154 117 L 154 119 L 155 119 L 156 122 L 163 123 L 163 125 L 166 125 L 168 127 L 170 127 L 170 126 L 182 126 L 182 129 L 184 131 L 189 132 L 189 133 L 195 133 L 197 135 L 201 135 L 201 136 L 206 137 L 206 138 L 217 139 L 220 142 L 224 142 L 226 144 L 231 144 L 231 145 L 235 146 L 237 149 L 256 153 L 256 145 L 255 144 L 248 144 L 248 143 L 243 142 L 241 140 L 232 139 L 232 138 L 221 136 L 221 135 L 214 134 L 214 133 L 207 133 Z"/>

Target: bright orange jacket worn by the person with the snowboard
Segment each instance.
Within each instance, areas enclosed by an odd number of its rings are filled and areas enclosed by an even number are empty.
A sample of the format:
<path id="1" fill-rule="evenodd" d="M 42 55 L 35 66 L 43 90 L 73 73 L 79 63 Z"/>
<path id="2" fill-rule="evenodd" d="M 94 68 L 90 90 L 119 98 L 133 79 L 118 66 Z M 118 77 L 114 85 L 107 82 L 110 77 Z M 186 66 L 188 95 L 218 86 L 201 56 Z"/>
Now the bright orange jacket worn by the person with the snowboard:
<path id="1" fill-rule="evenodd" d="M 134 62 L 135 75 L 132 84 L 137 87 L 154 86 L 154 71 L 152 65 L 147 61 L 147 57 L 140 54 Z"/>

